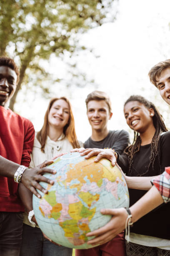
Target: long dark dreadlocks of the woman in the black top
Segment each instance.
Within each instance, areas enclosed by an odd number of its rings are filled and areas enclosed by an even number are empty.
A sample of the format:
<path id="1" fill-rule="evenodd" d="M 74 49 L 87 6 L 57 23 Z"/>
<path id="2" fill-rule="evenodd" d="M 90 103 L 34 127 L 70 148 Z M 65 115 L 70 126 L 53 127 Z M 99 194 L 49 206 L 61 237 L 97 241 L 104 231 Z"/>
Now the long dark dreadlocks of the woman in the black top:
<path id="1" fill-rule="evenodd" d="M 144 174 L 146 174 L 149 171 L 151 164 L 152 164 L 152 167 L 154 166 L 156 156 L 158 156 L 158 161 L 160 164 L 160 156 L 159 156 L 160 134 L 162 132 L 166 132 L 168 130 L 165 126 L 162 115 L 160 115 L 158 109 L 155 107 L 155 105 L 152 102 L 146 100 L 144 97 L 142 97 L 140 95 L 132 95 L 128 98 L 128 100 L 126 100 L 124 107 L 128 102 L 131 102 L 131 101 L 138 101 L 138 102 L 142 103 L 148 109 L 153 108 L 154 113 L 155 113 L 152 118 L 153 118 L 153 125 L 154 125 L 156 131 L 155 131 L 155 134 L 154 134 L 152 142 L 151 142 L 150 162 L 149 162 L 147 171 L 144 173 Z M 133 156 L 135 155 L 135 153 L 137 153 L 139 151 L 140 144 L 141 144 L 140 134 L 137 131 L 134 131 L 133 143 L 132 143 L 132 145 L 125 148 L 125 151 L 124 151 L 125 154 L 128 155 L 129 175 L 130 176 L 132 175 Z M 161 168 L 160 168 L 160 170 L 161 170 Z"/>

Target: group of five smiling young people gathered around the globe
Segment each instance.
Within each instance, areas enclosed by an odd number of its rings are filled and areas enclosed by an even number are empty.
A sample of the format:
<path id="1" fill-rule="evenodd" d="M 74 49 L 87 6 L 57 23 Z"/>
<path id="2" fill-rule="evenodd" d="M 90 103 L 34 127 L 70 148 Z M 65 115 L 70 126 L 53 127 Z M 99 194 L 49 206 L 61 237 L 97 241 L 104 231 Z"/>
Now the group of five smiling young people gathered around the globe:
<path id="1" fill-rule="evenodd" d="M 170 104 L 170 60 L 158 65 L 162 69 L 158 71 L 153 67 L 150 79 Z M 168 202 L 170 198 L 170 171 L 164 172 L 170 165 L 170 132 L 155 105 L 139 95 L 132 95 L 125 102 L 125 119 L 134 130 L 134 141 L 130 145 L 127 131 L 108 130 L 107 123 L 112 117 L 108 95 L 99 91 L 90 93 L 85 103 L 92 134 L 83 145 L 77 140 L 71 105 L 65 97 L 50 100 L 44 124 L 37 133 L 29 120 L 8 109 L 7 102 L 18 80 L 19 69 L 15 62 L 1 57 L 0 255 L 72 255 L 72 249 L 54 244 L 43 236 L 32 210 L 32 193 L 40 197 L 36 189 L 47 192 L 39 181 L 52 184 L 42 174 L 54 171 L 45 167 L 52 163 L 53 157 L 70 150 L 79 151 L 86 158 L 96 155 L 95 161 L 106 157 L 113 166 L 118 164 L 130 194 L 128 212 L 124 208 L 101 210 L 103 214 L 113 215 L 112 219 L 103 228 L 87 234 L 96 236 L 88 242 L 96 247 L 76 250 L 76 256 L 170 255 L 167 220 L 170 205 L 163 203 L 163 199 Z M 153 211 L 148 213 L 150 210 Z M 127 219 L 129 226 L 134 224 L 124 238 Z"/>

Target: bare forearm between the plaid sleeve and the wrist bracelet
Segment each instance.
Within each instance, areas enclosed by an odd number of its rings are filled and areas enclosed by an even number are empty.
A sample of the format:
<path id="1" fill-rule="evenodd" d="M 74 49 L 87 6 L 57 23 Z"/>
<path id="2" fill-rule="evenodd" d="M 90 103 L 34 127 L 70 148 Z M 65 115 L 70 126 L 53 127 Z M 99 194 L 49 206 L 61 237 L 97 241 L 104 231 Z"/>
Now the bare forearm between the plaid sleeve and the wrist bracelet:
<path id="1" fill-rule="evenodd" d="M 132 222 L 136 222 L 151 210 L 163 203 L 158 189 L 153 186 L 143 197 L 130 207 L 132 213 Z"/>

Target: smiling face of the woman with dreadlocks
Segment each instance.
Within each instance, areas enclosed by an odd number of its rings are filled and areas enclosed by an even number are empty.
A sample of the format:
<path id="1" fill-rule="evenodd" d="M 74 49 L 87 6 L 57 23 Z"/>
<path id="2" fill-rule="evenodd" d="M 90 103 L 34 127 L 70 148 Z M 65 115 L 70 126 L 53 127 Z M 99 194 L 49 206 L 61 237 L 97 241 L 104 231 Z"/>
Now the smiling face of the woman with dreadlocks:
<path id="1" fill-rule="evenodd" d="M 144 133 L 153 125 L 153 108 L 146 108 L 143 103 L 130 101 L 124 106 L 124 115 L 131 129 Z"/>

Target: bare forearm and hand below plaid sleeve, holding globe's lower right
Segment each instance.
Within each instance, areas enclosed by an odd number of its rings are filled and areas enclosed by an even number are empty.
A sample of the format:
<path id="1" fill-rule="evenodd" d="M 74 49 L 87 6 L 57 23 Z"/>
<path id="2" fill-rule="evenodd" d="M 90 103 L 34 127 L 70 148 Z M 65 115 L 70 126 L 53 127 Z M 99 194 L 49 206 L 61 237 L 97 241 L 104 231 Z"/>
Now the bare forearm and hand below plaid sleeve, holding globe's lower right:
<path id="1" fill-rule="evenodd" d="M 153 186 L 143 197 L 140 198 L 140 200 L 130 207 L 130 212 L 132 214 L 131 221 L 135 223 L 141 217 L 162 203 L 163 198 L 158 192 L 158 189 Z M 88 237 L 95 236 L 94 239 L 87 242 L 93 246 L 107 243 L 108 241 L 112 240 L 112 238 L 117 236 L 117 234 L 125 229 L 126 220 L 128 218 L 125 208 L 102 209 L 101 213 L 112 215 L 112 218 L 104 227 L 87 233 L 86 236 Z"/>

